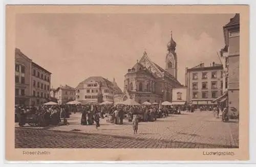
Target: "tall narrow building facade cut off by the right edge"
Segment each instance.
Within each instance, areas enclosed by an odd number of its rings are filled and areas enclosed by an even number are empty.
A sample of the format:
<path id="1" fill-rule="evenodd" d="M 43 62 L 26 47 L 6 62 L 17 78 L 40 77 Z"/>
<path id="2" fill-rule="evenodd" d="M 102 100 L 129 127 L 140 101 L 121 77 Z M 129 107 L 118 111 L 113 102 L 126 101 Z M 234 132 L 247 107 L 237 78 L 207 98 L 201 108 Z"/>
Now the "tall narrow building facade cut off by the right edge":
<path id="1" fill-rule="evenodd" d="M 223 27 L 227 69 L 229 114 L 239 116 L 240 15 L 236 14 Z"/>

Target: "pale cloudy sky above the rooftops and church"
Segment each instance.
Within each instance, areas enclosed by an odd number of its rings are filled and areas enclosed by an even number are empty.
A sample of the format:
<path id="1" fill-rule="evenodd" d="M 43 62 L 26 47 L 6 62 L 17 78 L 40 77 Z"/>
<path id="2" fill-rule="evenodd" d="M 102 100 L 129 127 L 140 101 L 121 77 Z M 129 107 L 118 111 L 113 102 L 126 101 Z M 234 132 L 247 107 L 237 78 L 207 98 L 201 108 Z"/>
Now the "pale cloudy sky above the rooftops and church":
<path id="1" fill-rule="evenodd" d="M 220 63 L 222 27 L 234 14 L 18 14 L 16 47 L 52 73 L 51 85 L 76 87 L 90 76 L 124 75 L 146 51 L 165 68 L 170 31 L 176 41 L 178 80 L 185 67 Z"/>

